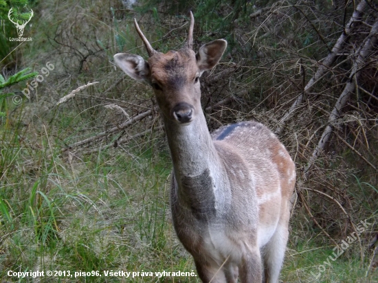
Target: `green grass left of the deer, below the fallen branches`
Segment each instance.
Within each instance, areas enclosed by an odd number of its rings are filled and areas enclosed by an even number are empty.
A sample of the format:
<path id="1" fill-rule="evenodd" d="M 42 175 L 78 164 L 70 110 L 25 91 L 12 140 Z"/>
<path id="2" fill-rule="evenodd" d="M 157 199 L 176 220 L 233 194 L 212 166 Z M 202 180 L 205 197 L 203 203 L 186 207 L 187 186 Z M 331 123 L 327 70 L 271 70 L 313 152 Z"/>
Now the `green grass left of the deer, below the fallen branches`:
<path id="1" fill-rule="evenodd" d="M 108 151 L 85 159 L 47 158 L 50 139 L 46 127 L 43 148 L 30 154 L 35 172 L 12 168 L 12 163 L 25 163 L 20 154 L 25 148 L 19 141 L 3 155 L 8 170 L 1 183 L 1 280 L 16 279 L 9 278 L 8 271 L 103 274 L 193 269 L 169 220 L 166 155 L 146 148 L 131 151 L 131 157 Z M 98 276 L 60 280 L 104 282 Z M 124 278 L 109 276 L 107 281 L 124 282 Z M 140 275 L 133 282 L 151 282 L 151 277 Z"/>

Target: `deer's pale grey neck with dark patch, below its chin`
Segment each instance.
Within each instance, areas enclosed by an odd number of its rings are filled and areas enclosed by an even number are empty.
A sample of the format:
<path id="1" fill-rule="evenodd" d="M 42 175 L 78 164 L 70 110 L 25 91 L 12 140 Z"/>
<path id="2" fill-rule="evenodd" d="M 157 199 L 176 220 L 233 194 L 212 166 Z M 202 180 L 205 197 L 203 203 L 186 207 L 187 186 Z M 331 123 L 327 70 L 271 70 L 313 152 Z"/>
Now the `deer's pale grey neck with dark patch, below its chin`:
<path id="1" fill-rule="evenodd" d="M 173 161 L 175 203 L 198 220 L 210 221 L 225 210 L 221 188 L 227 183 L 203 112 L 188 126 L 165 123 Z"/>

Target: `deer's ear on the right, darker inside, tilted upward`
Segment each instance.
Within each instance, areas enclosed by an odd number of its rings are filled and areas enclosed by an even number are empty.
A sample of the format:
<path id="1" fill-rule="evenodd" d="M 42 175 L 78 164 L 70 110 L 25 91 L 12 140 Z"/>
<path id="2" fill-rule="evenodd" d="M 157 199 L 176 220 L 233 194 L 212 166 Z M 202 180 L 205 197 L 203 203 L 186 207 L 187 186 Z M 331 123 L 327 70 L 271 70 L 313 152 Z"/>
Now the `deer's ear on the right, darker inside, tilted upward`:
<path id="1" fill-rule="evenodd" d="M 202 45 L 196 55 L 199 69 L 201 71 L 212 69 L 221 60 L 226 47 L 227 41 L 224 39 L 217 39 L 216 41 Z"/>

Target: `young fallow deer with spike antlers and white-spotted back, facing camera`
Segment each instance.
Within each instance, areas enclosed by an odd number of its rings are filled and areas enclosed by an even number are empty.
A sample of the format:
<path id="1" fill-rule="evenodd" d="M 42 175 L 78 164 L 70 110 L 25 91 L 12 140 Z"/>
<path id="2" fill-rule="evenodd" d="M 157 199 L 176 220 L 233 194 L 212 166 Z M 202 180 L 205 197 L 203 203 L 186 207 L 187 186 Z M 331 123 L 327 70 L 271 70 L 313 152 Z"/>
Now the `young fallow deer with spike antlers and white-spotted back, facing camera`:
<path id="1" fill-rule="evenodd" d="M 151 84 L 173 161 L 170 203 L 179 240 L 203 282 L 278 282 L 288 238 L 294 163 L 274 133 L 258 122 L 210 134 L 201 109 L 199 77 L 227 46 L 223 39 L 192 50 L 155 51 L 135 21 L 149 58 L 115 54 L 131 78 Z"/>

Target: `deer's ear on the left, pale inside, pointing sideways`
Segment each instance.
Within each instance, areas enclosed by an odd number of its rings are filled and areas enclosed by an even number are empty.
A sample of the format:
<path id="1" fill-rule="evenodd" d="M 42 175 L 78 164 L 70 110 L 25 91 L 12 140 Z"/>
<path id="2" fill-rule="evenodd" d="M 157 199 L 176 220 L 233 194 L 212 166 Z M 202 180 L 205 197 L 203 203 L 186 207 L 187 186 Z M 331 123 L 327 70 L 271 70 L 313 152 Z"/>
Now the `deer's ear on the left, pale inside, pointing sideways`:
<path id="1" fill-rule="evenodd" d="M 134 80 L 148 80 L 149 78 L 150 67 L 141 56 L 118 53 L 114 55 L 114 62 Z"/>

